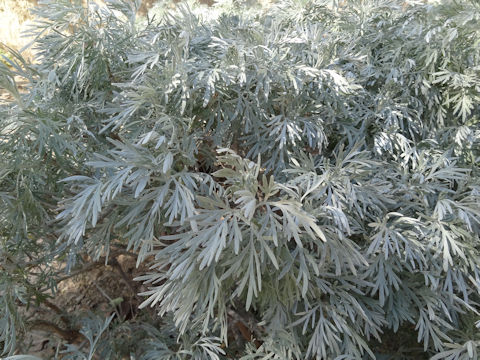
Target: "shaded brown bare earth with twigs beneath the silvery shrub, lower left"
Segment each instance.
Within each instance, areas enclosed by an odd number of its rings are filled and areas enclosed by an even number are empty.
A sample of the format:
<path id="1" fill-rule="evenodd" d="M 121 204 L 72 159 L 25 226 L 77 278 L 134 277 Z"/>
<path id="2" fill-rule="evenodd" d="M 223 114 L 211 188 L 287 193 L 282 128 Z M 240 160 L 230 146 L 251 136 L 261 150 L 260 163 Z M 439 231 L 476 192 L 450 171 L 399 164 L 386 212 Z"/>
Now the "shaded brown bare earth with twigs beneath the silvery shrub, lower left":
<path id="1" fill-rule="evenodd" d="M 88 313 L 105 318 L 115 313 L 117 319 L 135 320 L 142 301 L 137 294 L 145 288 L 132 279 L 147 269 L 136 268 L 136 257 L 132 255 L 110 258 L 109 265 L 102 259 L 66 275 L 46 307 L 35 313 L 26 310 L 29 320 L 22 350 L 50 359 L 63 343 L 81 344 L 85 339 L 79 333 L 78 319 Z"/>

